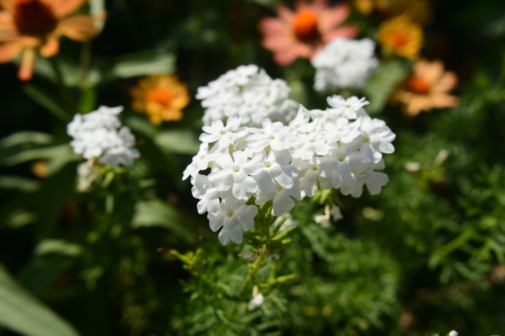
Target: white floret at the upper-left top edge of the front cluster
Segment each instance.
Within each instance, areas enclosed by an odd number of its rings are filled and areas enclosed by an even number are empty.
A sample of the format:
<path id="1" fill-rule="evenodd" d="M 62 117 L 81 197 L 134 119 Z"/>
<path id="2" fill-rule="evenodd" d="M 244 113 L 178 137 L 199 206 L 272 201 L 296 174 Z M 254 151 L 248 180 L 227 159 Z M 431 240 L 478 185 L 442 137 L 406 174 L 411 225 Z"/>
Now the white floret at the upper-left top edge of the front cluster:
<path id="1" fill-rule="evenodd" d="M 218 143 L 218 148 L 226 148 L 231 145 L 234 139 L 246 135 L 247 130 L 234 132 L 240 126 L 241 117 L 230 117 L 226 120 L 226 126 L 221 120 L 214 120 L 210 126 L 204 126 L 205 133 L 200 135 L 200 141 L 203 143 Z"/>

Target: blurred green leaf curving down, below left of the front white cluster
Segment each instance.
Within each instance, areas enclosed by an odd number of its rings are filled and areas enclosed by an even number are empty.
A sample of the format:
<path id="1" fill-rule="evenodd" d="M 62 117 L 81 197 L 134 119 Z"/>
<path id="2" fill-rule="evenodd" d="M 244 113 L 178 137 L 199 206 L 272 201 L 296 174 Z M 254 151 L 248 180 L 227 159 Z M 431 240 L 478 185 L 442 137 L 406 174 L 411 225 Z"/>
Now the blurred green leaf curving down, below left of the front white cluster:
<path id="1" fill-rule="evenodd" d="M 131 226 L 133 228 L 159 226 L 177 233 L 187 243 L 196 242 L 196 235 L 187 227 L 181 213 L 161 200 L 137 203 Z"/>

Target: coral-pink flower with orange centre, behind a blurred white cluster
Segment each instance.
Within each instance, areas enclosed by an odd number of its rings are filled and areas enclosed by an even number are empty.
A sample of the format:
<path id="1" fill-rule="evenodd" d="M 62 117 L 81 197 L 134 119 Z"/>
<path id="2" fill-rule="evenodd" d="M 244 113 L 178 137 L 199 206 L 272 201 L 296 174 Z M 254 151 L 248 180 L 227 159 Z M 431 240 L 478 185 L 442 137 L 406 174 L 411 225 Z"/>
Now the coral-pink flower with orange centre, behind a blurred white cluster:
<path id="1" fill-rule="evenodd" d="M 277 8 L 278 18 L 260 21 L 262 44 L 274 52 L 274 60 L 283 66 L 296 57 L 312 58 L 326 43 L 337 37 L 355 37 L 358 27 L 341 26 L 349 16 L 345 4 L 328 7 L 327 0 L 315 0 L 308 4 L 300 1 L 295 12 L 284 6 Z"/>

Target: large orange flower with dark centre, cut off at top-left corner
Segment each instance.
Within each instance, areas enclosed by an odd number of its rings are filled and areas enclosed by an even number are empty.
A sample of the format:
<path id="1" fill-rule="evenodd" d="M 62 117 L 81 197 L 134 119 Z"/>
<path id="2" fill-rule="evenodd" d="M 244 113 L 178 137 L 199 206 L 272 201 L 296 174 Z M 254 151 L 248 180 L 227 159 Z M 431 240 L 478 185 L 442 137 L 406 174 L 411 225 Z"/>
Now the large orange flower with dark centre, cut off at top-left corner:
<path id="1" fill-rule="evenodd" d="M 37 50 L 43 57 L 56 55 L 60 38 L 87 41 L 98 33 L 99 18 L 73 15 L 86 0 L 0 0 L 0 63 L 21 55 L 18 78 L 28 81 L 33 75 Z M 101 15 L 103 18 L 105 15 Z"/>

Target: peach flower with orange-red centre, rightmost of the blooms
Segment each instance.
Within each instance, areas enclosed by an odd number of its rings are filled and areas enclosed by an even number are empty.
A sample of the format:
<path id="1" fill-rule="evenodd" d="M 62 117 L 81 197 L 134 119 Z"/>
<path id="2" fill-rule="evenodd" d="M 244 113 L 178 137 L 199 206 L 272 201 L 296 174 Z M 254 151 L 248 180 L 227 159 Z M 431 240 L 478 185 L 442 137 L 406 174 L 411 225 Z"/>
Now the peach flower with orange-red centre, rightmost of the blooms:
<path id="1" fill-rule="evenodd" d="M 421 59 L 414 65 L 413 75 L 393 98 L 405 104 L 408 115 L 416 116 L 433 108 L 457 106 L 460 98 L 449 94 L 457 85 L 458 77 L 453 72 L 444 71 L 442 61 Z"/>

